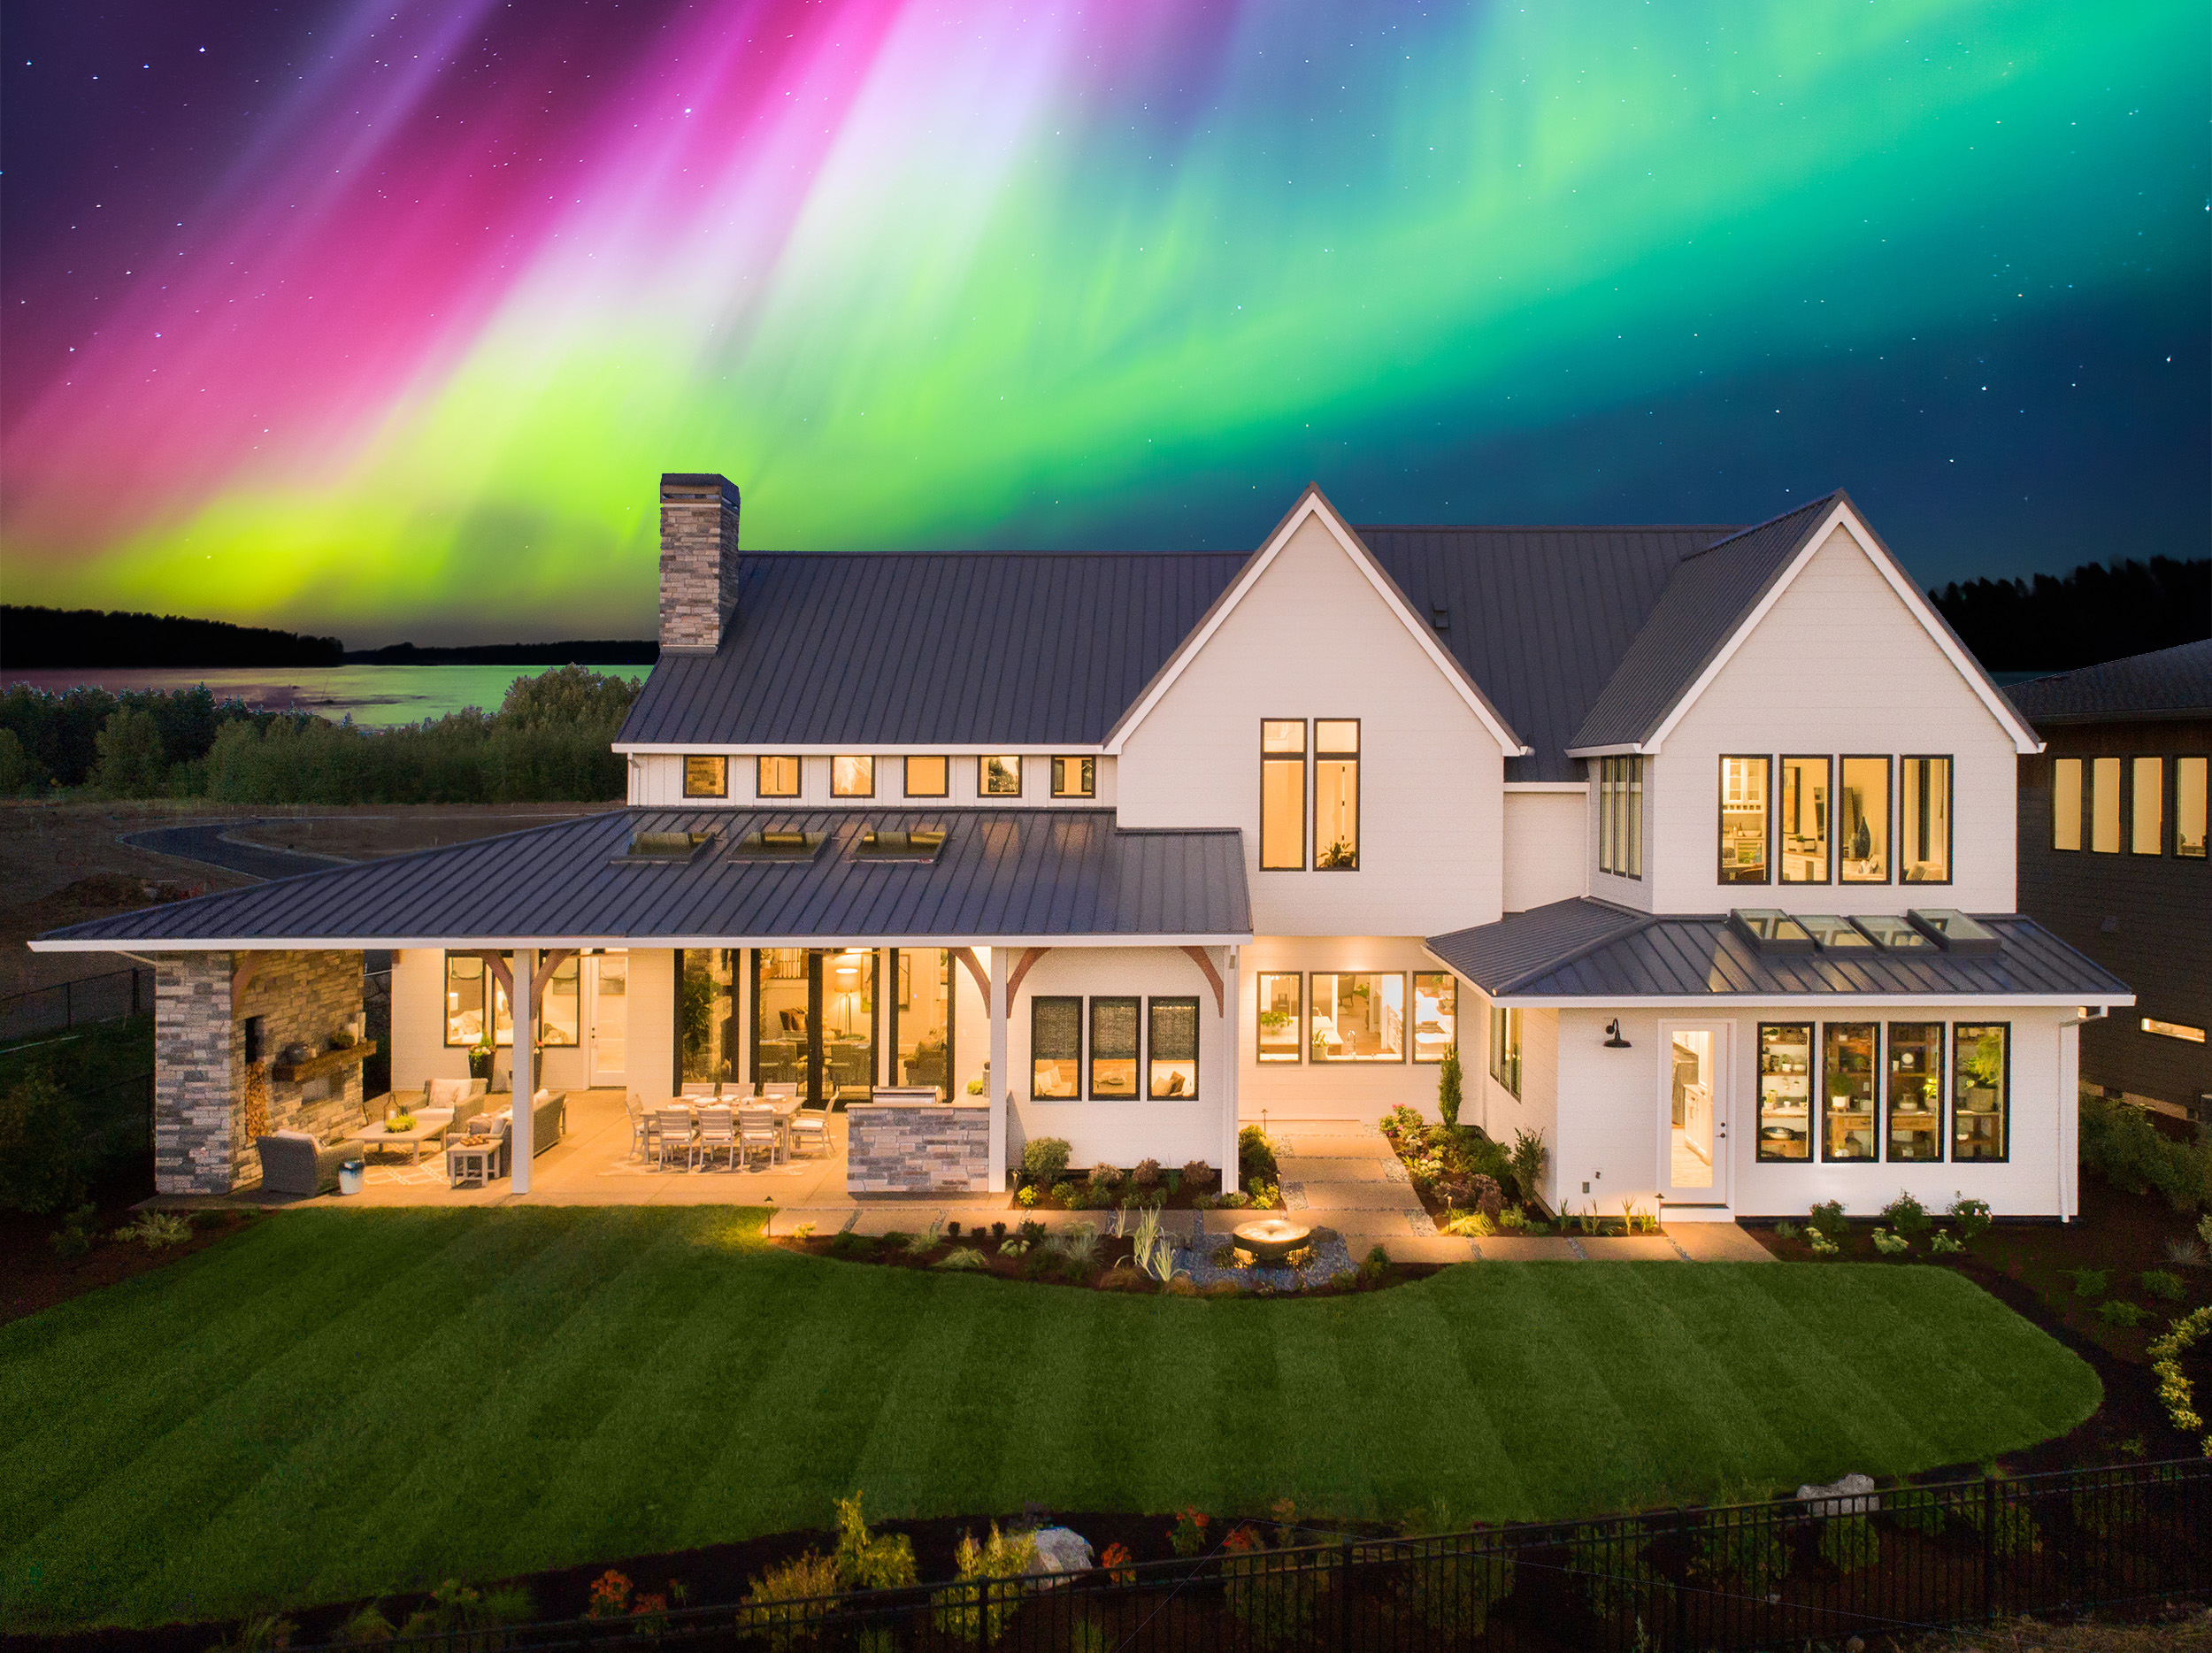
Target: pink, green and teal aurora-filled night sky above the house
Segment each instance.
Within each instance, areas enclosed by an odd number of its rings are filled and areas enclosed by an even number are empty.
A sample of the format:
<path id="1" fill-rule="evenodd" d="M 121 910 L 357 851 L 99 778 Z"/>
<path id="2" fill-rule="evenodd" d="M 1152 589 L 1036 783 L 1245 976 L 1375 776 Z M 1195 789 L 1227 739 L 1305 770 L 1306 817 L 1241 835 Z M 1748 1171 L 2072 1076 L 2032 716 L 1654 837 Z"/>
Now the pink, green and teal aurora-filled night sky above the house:
<path id="1" fill-rule="evenodd" d="M 646 635 L 752 547 L 2203 555 L 2201 0 L 7 13 L 11 602 Z"/>

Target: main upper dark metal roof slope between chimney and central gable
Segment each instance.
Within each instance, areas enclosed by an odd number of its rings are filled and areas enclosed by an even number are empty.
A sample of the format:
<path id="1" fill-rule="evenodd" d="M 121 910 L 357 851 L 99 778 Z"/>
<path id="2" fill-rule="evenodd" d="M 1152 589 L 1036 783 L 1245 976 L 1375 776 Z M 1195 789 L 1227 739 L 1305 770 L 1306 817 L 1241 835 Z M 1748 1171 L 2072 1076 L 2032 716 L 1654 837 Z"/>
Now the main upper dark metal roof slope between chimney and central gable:
<path id="1" fill-rule="evenodd" d="M 748 553 L 622 746 L 1097 746 L 1245 553 Z"/>

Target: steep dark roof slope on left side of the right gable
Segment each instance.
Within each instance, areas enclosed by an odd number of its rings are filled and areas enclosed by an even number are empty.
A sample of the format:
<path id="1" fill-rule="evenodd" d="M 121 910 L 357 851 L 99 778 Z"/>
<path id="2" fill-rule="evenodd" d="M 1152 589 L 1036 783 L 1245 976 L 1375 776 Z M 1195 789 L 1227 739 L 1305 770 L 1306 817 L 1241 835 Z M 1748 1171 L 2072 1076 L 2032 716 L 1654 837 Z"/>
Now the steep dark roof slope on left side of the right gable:
<path id="1" fill-rule="evenodd" d="M 1840 498 L 1827 493 L 1683 558 L 1566 746 L 1650 739 Z"/>

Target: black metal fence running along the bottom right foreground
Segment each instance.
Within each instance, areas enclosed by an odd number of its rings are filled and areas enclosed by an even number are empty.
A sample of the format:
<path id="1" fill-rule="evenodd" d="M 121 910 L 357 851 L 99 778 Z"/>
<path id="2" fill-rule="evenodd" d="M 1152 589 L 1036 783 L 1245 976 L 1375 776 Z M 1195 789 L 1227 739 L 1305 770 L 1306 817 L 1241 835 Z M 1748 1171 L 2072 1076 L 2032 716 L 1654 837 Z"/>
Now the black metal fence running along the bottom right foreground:
<path id="1" fill-rule="evenodd" d="M 1781 1649 L 2212 1589 L 2212 1463 L 1891 1487 L 1440 1538 L 1232 1522 L 1208 1553 L 759 1607 L 473 1626 L 394 1649 L 637 1638 L 772 1653 Z"/>

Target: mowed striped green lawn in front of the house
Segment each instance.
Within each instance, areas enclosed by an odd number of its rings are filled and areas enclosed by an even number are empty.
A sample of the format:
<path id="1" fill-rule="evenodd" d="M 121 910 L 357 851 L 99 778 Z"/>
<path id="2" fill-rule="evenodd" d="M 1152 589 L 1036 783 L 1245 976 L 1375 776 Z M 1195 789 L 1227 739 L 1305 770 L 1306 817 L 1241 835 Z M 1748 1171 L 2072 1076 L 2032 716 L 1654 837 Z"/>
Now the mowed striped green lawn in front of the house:
<path id="1" fill-rule="evenodd" d="M 1321 1301 L 794 1257 L 759 1213 L 288 1213 L 0 1328 L 0 1629 L 874 1516 L 1624 1509 L 1986 1458 L 2095 1374 L 1942 1270 L 1475 1264 Z"/>

